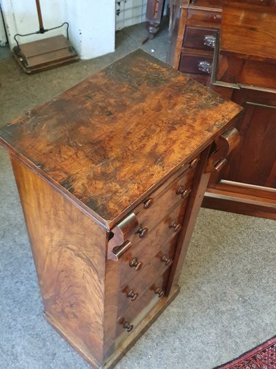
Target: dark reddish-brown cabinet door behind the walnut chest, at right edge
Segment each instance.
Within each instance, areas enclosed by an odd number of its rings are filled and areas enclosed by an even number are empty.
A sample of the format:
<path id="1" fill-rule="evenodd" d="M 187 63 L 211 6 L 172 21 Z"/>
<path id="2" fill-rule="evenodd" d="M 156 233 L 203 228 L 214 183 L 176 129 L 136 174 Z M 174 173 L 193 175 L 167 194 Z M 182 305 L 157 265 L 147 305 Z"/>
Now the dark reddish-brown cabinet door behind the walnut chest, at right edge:
<path id="1" fill-rule="evenodd" d="M 276 91 L 240 89 L 232 100 L 244 107 L 237 125 L 242 140 L 221 178 L 276 188 Z"/>

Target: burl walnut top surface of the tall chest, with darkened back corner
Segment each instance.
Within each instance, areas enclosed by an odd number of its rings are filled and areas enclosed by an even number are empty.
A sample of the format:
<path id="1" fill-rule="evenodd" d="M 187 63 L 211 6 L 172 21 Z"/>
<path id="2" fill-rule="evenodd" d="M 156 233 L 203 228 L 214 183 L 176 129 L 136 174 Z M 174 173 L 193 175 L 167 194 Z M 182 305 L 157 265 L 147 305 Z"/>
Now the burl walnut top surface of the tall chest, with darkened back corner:
<path id="1" fill-rule="evenodd" d="M 241 111 L 137 50 L 0 130 L 0 143 L 105 226 Z"/>

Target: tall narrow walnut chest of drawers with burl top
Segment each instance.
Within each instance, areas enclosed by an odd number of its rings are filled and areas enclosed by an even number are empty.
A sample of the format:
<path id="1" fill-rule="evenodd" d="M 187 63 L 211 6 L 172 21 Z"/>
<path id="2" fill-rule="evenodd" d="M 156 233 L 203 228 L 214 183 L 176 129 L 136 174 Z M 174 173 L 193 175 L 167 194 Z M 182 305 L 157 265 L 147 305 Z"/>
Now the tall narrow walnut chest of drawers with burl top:
<path id="1" fill-rule="evenodd" d="M 177 295 L 240 111 L 138 50 L 1 129 L 44 315 L 93 367 L 114 366 Z"/>

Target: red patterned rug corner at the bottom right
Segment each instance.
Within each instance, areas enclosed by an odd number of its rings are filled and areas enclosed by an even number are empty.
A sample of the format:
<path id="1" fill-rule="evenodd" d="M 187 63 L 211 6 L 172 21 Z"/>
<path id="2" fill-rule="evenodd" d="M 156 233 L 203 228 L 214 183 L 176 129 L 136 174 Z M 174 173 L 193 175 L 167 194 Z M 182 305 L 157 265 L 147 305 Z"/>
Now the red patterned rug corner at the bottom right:
<path id="1" fill-rule="evenodd" d="M 214 369 L 276 369 L 276 336 Z"/>

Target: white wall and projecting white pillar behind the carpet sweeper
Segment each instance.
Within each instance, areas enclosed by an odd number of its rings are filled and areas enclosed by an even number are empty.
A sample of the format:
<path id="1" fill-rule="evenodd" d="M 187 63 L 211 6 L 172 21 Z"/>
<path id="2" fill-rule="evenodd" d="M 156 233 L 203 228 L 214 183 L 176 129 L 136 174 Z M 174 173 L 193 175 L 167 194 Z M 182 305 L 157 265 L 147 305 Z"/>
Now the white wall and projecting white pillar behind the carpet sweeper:
<path id="1" fill-rule="evenodd" d="M 10 47 L 16 45 L 16 33 L 39 30 L 35 0 L 1 0 Z M 114 0 L 41 0 L 44 28 L 69 23 L 70 42 L 81 59 L 90 59 L 115 50 Z M 66 27 L 43 35 L 19 37 L 19 44 L 43 37 L 66 35 Z"/>

